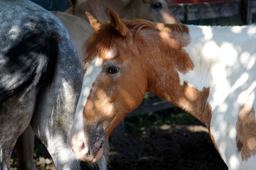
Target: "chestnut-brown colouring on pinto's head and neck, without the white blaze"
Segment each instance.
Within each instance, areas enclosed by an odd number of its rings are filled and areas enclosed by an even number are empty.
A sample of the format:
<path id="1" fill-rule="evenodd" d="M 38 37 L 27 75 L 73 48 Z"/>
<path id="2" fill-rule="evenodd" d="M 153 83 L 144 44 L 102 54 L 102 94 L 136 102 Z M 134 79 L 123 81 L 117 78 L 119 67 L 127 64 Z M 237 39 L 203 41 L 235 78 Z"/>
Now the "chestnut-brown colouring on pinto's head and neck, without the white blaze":
<path id="1" fill-rule="evenodd" d="M 92 134 L 88 135 L 86 127 L 93 127 L 96 131 L 92 132 L 100 132 L 108 138 L 124 116 L 142 103 L 146 91 L 166 98 L 209 128 L 211 108 L 207 98 L 210 89 L 199 91 L 186 82 L 181 85 L 178 77 L 178 72 L 185 74 L 194 67 L 183 50 L 190 40 L 188 28 L 178 24 L 120 20 L 112 9 L 107 11 L 108 23 L 99 25 L 95 18 L 89 17 L 96 32 L 87 42 L 84 65 L 87 67 L 95 56 L 100 57 L 103 64 L 83 110 L 87 136 L 83 140 L 89 144 L 85 147 L 97 151 L 93 142 L 99 143 L 95 137 L 90 138 Z M 151 36 L 147 36 L 148 33 Z M 114 56 L 107 56 L 113 48 Z M 84 156 L 88 160 L 87 155 Z M 98 158 L 99 154 L 94 152 L 92 156 Z"/>

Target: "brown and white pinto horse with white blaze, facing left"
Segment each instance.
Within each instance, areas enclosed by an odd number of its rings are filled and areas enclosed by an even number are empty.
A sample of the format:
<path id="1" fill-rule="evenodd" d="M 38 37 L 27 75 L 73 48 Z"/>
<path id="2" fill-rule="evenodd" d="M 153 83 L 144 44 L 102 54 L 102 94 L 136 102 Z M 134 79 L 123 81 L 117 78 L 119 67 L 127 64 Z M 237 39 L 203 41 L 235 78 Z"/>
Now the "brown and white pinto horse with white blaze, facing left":
<path id="1" fill-rule="evenodd" d="M 82 91 L 70 133 L 78 159 L 96 162 L 110 132 L 146 91 L 201 120 L 230 170 L 256 167 L 255 26 L 184 26 L 90 13 Z"/>

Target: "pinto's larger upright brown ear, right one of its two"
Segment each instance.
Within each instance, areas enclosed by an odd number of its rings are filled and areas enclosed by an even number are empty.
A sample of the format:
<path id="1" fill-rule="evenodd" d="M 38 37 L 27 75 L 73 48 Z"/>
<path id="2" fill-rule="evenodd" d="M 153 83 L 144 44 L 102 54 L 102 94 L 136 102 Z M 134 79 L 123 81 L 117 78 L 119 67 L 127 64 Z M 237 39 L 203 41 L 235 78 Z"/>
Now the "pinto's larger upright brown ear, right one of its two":
<path id="1" fill-rule="evenodd" d="M 122 37 L 126 38 L 127 34 L 129 32 L 129 29 L 127 26 L 120 20 L 117 13 L 114 11 L 114 9 L 107 7 L 107 13 L 110 16 L 110 23 L 112 27 L 117 30 L 117 33 Z"/>

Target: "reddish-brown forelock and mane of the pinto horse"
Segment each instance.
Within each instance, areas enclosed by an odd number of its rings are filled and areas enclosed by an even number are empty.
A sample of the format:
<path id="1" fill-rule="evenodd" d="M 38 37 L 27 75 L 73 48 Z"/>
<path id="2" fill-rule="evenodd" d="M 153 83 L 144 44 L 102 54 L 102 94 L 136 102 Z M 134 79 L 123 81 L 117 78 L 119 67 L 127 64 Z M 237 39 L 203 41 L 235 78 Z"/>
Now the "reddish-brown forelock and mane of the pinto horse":
<path id="1" fill-rule="evenodd" d="M 151 21 L 146 21 L 144 19 L 134 19 L 134 20 L 125 20 L 122 19 L 122 22 L 129 28 L 130 32 L 132 32 L 132 36 L 136 41 L 139 37 L 139 33 L 144 28 L 151 28 L 153 30 L 159 30 L 157 27 L 160 24 L 162 27 L 169 28 L 171 31 L 179 31 L 188 33 L 188 28 L 182 24 L 164 24 L 164 23 L 154 23 Z M 86 43 L 85 61 L 90 61 L 90 57 L 94 57 L 99 52 L 105 52 L 105 50 L 109 50 L 112 46 L 114 40 L 125 41 L 125 39 L 120 38 L 117 31 L 111 26 L 110 22 L 102 23 L 102 26 L 99 30 L 97 30 Z"/>

